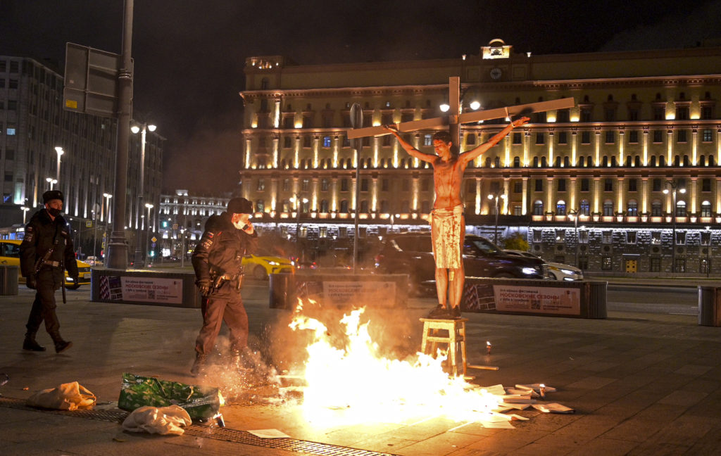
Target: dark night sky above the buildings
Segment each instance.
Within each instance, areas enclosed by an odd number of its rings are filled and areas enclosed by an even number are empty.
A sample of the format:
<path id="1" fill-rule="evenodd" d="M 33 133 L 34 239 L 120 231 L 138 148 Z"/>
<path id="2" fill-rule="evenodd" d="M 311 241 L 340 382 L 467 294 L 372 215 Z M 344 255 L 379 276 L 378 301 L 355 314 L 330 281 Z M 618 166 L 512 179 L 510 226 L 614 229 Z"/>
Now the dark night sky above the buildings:
<path id="1" fill-rule="evenodd" d="M 167 138 L 165 191 L 231 191 L 240 168 L 243 66 L 454 58 L 501 38 L 534 54 L 721 45 L 721 0 L 136 0 L 134 115 Z M 123 0 L 0 0 L 0 55 L 65 43 L 120 53 Z M 720 70 L 721 71 L 721 70 Z"/>

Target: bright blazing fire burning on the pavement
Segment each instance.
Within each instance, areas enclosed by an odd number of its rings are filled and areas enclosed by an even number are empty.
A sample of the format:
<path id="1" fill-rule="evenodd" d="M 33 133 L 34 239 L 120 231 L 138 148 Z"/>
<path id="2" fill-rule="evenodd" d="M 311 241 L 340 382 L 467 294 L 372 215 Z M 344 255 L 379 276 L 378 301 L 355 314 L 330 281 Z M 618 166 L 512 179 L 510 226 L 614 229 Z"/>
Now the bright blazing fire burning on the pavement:
<path id="1" fill-rule="evenodd" d="M 353 310 L 341 319 L 345 347 L 335 347 L 328 328 L 317 319 L 300 313 L 293 318 L 294 331 L 312 331 L 304 366 L 303 412 L 308 421 L 337 425 L 435 416 L 488 421 L 498 415 L 494 410 L 502 398 L 443 372 L 441 353 L 435 359 L 423 353 L 409 360 L 380 356 L 368 334 L 371 322 L 361 323 L 363 311 Z"/>

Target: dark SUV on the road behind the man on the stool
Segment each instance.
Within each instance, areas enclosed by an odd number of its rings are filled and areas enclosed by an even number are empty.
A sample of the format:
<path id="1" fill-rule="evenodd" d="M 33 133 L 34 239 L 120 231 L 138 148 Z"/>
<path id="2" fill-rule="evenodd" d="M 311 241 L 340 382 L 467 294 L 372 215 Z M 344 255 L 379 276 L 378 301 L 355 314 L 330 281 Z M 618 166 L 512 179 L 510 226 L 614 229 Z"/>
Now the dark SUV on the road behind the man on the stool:
<path id="1" fill-rule="evenodd" d="M 463 243 L 466 277 L 550 278 L 541 259 L 510 256 L 481 236 L 466 235 Z M 376 256 L 376 271 L 381 274 L 408 274 L 414 292 L 435 287 L 435 261 L 430 232 L 398 233 L 384 236 Z"/>

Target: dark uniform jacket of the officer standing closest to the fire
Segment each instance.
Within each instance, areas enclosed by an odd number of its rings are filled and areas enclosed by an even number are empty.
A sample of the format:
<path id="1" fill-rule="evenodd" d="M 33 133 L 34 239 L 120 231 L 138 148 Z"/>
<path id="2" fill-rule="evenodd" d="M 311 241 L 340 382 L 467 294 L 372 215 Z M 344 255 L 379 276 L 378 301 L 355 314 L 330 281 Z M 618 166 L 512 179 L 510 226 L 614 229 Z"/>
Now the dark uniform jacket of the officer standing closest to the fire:
<path id="1" fill-rule="evenodd" d="M 235 228 L 228 213 L 212 215 L 205 222 L 203 236 L 193 251 L 196 280 L 236 275 L 241 268 L 242 256 L 255 251 L 257 237 L 257 232 L 250 235 Z"/>

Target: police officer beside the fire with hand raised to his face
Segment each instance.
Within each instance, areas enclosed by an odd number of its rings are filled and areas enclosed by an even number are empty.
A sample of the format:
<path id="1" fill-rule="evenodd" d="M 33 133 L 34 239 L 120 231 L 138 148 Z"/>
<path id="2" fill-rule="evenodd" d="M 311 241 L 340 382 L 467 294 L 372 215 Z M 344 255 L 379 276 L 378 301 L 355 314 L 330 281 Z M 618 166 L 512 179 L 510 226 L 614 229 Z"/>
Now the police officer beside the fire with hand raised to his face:
<path id="1" fill-rule="evenodd" d="M 257 233 L 250 216 L 252 202 L 233 198 L 228 210 L 212 215 L 193 251 L 195 284 L 203 295 L 203 327 L 195 339 L 195 363 L 190 372 L 198 375 L 215 346 L 221 323 L 230 331 L 231 350 L 238 355 L 248 342 L 248 316 L 240 295 L 242 257 L 255 251 Z"/>

